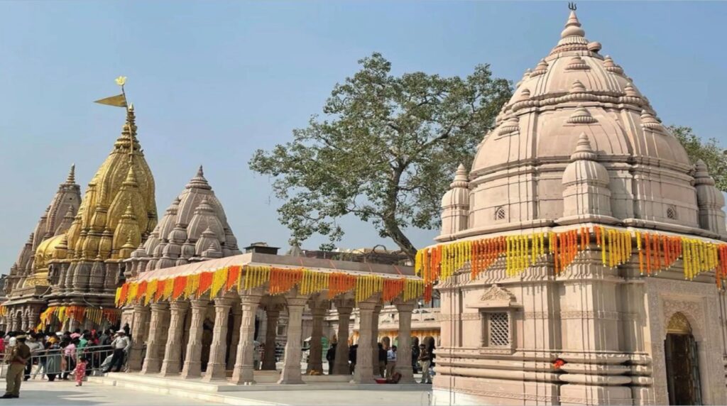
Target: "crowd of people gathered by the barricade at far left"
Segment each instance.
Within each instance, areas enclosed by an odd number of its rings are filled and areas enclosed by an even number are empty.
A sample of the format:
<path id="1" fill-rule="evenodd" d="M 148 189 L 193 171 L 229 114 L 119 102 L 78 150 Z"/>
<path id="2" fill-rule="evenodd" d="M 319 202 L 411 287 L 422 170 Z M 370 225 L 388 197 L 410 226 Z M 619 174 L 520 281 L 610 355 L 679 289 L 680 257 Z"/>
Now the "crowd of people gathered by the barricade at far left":
<path id="1" fill-rule="evenodd" d="M 0 399 L 20 397 L 20 384 L 29 379 L 68 381 L 83 385 L 92 370 L 119 372 L 131 342 L 129 326 L 107 329 L 36 332 L 0 331 L 0 356 L 6 364 L 7 388 Z"/>

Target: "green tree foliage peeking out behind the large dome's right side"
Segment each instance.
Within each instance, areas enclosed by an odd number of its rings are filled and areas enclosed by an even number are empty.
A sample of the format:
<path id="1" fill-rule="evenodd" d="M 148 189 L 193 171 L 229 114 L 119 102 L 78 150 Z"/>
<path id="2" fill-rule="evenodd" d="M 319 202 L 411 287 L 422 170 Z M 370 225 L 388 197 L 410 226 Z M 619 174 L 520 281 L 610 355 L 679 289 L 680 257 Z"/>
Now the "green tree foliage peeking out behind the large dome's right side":
<path id="1" fill-rule="evenodd" d="M 669 126 L 669 130 L 684 146 L 689 160 L 692 163 L 700 159 L 704 161 L 718 189 L 727 191 L 727 155 L 718 140 L 710 138 L 704 141 L 694 134 L 691 127 Z"/>

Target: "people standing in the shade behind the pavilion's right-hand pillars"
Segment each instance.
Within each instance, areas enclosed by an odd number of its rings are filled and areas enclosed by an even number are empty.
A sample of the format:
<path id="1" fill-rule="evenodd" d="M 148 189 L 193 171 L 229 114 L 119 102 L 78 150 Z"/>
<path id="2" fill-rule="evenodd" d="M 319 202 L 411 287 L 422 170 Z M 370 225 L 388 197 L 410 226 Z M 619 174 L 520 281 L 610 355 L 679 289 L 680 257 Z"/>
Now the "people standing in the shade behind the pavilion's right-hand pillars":
<path id="1" fill-rule="evenodd" d="M 388 383 L 397 383 L 398 373 L 396 370 L 397 353 L 396 346 L 388 346 L 383 342 L 378 343 L 378 369 L 374 370 L 374 375 L 386 379 Z M 332 343 L 326 352 L 326 361 L 328 361 L 328 373 L 333 375 L 333 366 L 336 362 L 337 343 Z M 413 373 L 422 373 L 422 380 L 419 383 L 432 383 L 430 368 L 434 366 L 434 344 L 430 346 L 425 344 L 414 343 L 411 345 L 411 370 Z M 348 347 L 348 369 L 353 375 L 356 370 L 356 354 L 358 352 L 358 344 Z"/>

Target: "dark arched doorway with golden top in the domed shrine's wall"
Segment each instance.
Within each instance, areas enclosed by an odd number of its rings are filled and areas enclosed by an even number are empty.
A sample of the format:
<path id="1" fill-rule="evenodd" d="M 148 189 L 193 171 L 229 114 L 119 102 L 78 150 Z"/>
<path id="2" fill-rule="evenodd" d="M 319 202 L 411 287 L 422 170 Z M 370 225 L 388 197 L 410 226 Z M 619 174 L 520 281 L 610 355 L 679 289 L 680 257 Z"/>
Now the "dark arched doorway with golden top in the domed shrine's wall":
<path id="1" fill-rule="evenodd" d="M 689 320 L 676 312 L 669 320 L 667 339 L 664 340 L 670 405 L 702 405 L 696 346 Z"/>

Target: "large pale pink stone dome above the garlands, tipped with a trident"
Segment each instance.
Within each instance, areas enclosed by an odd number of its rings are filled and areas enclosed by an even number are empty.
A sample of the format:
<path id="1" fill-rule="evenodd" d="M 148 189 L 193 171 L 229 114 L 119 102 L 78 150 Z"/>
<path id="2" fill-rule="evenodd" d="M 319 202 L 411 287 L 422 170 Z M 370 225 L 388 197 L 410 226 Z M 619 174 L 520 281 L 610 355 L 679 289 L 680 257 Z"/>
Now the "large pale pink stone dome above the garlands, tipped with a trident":
<path id="1" fill-rule="evenodd" d="M 706 167 L 695 168 L 632 78 L 585 38 L 575 12 L 495 124 L 443 202 L 438 240 L 591 221 L 727 237 Z"/>

